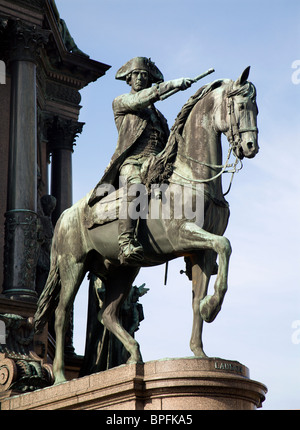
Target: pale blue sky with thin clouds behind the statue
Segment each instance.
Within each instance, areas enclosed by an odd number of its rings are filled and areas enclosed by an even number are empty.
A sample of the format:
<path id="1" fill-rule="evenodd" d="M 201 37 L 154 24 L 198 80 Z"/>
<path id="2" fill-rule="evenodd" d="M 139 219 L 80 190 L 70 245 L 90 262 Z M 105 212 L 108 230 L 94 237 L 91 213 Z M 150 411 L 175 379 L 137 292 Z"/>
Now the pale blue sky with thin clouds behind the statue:
<path id="1" fill-rule="evenodd" d="M 215 79 L 251 66 L 259 154 L 244 161 L 227 200 L 232 256 L 222 310 L 204 324 L 210 357 L 236 360 L 268 388 L 263 409 L 300 408 L 300 2 L 299 0 L 56 0 L 78 47 L 111 69 L 81 90 L 85 122 L 73 154 L 73 202 L 101 178 L 117 142 L 112 101 L 129 87 L 115 73 L 146 56 L 165 80 L 215 73 L 157 102 L 169 126 L 187 99 Z M 223 148 L 228 148 L 225 136 Z M 224 150 L 225 151 L 225 150 Z M 224 177 L 224 184 L 228 181 Z M 225 188 L 225 185 L 224 185 Z M 191 282 L 182 259 L 142 269 L 145 320 L 136 333 L 144 361 L 192 356 Z M 214 278 L 213 278 L 214 279 Z M 212 279 L 212 280 L 213 280 Z M 210 289 L 213 288 L 213 282 Z M 84 353 L 88 284 L 75 300 L 74 346 Z"/>

